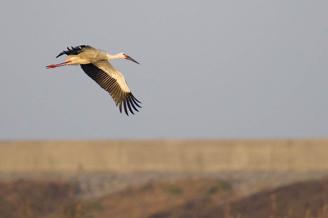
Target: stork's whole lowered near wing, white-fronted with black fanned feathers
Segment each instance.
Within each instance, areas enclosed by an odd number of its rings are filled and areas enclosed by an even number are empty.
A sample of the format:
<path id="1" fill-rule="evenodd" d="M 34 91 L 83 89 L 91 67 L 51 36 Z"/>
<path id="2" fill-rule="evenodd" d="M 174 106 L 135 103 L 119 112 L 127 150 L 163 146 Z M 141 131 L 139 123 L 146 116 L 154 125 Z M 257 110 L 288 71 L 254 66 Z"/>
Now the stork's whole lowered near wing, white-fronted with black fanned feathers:
<path id="1" fill-rule="evenodd" d="M 128 105 L 128 108 L 132 114 L 134 113 L 131 106 L 134 110 L 138 111 L 134 104 L 140 107 L 137 102 L 141 102 L 134 98 L 125 82 L 123 75 L 118 72 L 107 60 L 92 64 L 80 64 L 80 66 L 83 71 L 92 78 L 92 80 L 96 81 L 103 89 L 109 92 L 116 102 L 116 106 L 119 105 L 121 113 L 122 102 L 124 111 L 128 116 L 129 114 L 126 105 Z"/>

